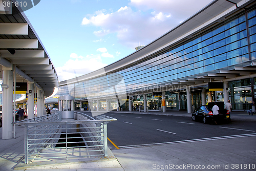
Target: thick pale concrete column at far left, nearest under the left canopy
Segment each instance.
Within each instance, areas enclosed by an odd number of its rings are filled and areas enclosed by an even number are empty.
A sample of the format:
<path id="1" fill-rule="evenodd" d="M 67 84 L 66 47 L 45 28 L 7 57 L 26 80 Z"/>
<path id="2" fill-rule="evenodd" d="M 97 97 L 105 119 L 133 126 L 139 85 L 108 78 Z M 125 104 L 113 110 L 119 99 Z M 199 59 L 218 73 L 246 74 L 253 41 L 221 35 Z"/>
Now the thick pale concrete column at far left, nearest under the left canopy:
<path id="1" fill-rule="evenodd" d="M 10 70 L 3 70 L 3 118 L 2 118 L 2 139 L 11 139 L 12 134 L 12 100 L 13 100 L 13 72 Z"/>

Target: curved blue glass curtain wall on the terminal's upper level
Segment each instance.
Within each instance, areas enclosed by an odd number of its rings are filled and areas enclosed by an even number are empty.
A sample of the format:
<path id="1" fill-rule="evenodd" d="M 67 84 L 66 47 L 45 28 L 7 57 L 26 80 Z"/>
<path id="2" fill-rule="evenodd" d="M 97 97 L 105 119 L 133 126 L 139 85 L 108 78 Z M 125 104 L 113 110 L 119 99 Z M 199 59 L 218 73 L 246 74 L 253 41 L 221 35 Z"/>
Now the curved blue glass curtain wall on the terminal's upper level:
<path id="1" fill-rule="evenodd" d="M 255 7 L 254 7 L 255 8 Z M 256 12 L 248 12 L 248 30 L 251 59 L 256 58 Z M 175 48 L 141 61 L 135 66 L 106 76 L 59 87 L 57 95 L 70 94 L 74 99 L 86 99 L 115 95 L 114 84 L 123 79 L 117 94 L 150 87 L 159 83 L 170 83 L 177 79 L 203 75 L 217 69 L 239 65 L 249 58 L 246 18 L 237 14 L 215 28 Z"/>

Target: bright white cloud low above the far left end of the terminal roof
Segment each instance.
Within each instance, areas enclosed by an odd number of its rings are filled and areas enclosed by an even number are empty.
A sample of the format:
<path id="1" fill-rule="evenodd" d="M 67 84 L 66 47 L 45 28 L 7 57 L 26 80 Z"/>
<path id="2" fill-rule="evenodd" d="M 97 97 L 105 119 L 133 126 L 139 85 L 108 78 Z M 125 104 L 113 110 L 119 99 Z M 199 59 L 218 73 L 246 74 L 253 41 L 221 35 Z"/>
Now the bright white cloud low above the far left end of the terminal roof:
<path id="1" fill-rule="evenodd" d="M 100 55 L 94 55 L 93 57 L 90 59 L 69 59 L 63 67 L 57 67 L 56 72 L 59 81 L 88 74 L 106 66 L 105 63 L 102 63 Z"/>

